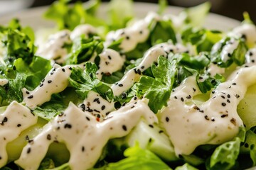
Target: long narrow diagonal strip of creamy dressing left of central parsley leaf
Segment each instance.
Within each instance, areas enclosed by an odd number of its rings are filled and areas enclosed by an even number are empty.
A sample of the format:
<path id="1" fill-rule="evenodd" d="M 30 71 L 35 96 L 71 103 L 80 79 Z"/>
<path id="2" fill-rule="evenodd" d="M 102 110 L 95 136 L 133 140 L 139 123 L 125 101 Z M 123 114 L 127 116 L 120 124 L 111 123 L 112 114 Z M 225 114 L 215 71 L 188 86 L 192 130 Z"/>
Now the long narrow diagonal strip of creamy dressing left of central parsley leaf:
<path id="1" fill-rule="evenodd" d="M 114 96 L 119 96 L 131 88 L 135 82 L 139 81 L 142 72 L 151 67 L 151 64 L 156 62 L 159 56 L 166 57 L 170 52 L 188 52 L 188 49 L 181 44 L 173 45 L 171 42 L 164 42 L 151 47 L 145 52 L 142 62 L 137 67 L 130 69 L 120 81 L 111 86 Z"/>

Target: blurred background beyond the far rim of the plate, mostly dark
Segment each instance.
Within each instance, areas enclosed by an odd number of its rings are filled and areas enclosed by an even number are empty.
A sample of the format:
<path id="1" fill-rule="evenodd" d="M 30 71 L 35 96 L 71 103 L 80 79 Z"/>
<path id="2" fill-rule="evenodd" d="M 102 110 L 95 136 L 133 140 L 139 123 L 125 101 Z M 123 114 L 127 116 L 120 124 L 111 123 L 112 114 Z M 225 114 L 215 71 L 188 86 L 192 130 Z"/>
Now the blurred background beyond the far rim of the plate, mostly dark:
<path id="1" fill-rule="evenodd" d="M 47 6 L 54 0 L 0 0 L 0 17 L 18 11 L 23 8 L 33 8 L 36 6 Z M 82 1 L 82 0 L 81 0 Z M 85 1 L 85 0 L 83 0 Z M 106 1 L 106 0 L 102 0 Z M 137 0 L 134 0 L 137 1 Z M 141 2 L 157 3 L 158 0 L 140 0 Z M 196 6 L 206 0 L 168 0 L 172 6 Z M 208 0 L 212 4 L 211 12 L 242 21 L 242 13 L 250 13 L 252 21 L 256 23 L 256 1 L 255 0 Z M 72 2 L 75 2 L 73 0 Z"/>

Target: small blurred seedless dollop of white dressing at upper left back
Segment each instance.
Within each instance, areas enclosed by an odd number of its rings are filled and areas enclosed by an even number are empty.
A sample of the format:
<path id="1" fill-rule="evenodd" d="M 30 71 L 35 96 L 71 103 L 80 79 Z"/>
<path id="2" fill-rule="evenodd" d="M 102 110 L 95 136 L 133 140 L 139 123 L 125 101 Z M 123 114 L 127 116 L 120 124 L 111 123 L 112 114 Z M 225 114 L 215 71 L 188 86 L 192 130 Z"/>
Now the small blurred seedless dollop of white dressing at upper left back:
<path id="1" fill-rule="evenodd" d="M 80 35 L 85 35 L 85 38 L 89 38 L 90 34 L 97 33 L 95 27 L 91 26 L 90 24 L 82 24 L 77 27 L 70 33 L 70 39 L 75 40 L 75 38 L 80 37 Z"/>

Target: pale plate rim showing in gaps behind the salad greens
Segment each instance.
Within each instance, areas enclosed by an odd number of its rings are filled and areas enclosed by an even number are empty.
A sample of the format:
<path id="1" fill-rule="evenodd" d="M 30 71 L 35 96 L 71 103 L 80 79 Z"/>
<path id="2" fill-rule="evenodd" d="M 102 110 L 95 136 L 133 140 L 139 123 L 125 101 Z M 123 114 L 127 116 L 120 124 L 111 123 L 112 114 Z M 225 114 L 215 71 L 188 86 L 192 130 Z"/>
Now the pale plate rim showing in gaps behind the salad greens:
<path id="1" fill-rule="evenodd" d="M 99 10 L 99 16 L 106 16 L 107 13 L 107 4 L 102 3 Z M 38 30 L 39 28 L 52 27 L 54 26 L 53 22 L 47 21 L 43 18 L 43 13 L 46 11 L 48 7 L 39 7 L 39 8 L 31 8 L 24 11 L 19 11 L 16 13 L 9 14 L 7 16 L 1 16 L 0 25 L 9 23 L 11 18 L 19 18 L 23 26 L 31 26 L 32 28 Z M 134 12 L 136 16 L 142 18 L 146 16 L 148 11 L 157 11 L 158 6 L 156 4 L 149 3 L 135 3 Z M 178 14 L 182 11 L 183 8 L 176 6 L 169 6 L 166 9 L 166 13 Z M 228 18 L 225 16 L 220 16 L 217 14 L 210 13 L 206 18 L 204 26 L 206 28 L 215 29 L 215 30 L 223 30 L 227 31 L 235 26 L 238 26 L 240 21 L 236 21 L 232 18 Z"/>

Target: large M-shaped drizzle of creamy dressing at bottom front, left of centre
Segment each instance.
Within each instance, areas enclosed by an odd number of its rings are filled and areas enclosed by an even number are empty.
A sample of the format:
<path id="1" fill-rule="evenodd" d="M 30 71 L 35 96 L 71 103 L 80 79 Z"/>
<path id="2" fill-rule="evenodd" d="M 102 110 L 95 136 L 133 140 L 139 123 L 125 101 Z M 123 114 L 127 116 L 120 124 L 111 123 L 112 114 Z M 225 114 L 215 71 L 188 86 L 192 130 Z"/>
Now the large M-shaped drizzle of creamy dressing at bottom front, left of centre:
<path id="1" fill-rule="evenodd" d="M 33 138 L 33 142 L 23 148 L 16 164 L 27 170 L 38 169 L 49 145 L 58 141 L 64 142 L 70 151 L 68 163 L 71 169 L 90 169 L 100 158 L 107 141 L 127 135 L 142 117 L 149 124 L 157 123 L 156 115 L 145 99 L 128 103 L 107 115 L 101 123 L 87 111 L 83 112 L 70 103 L 63 114 L 50 121 Z"/>

